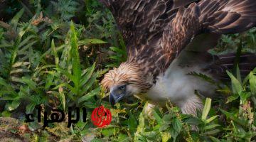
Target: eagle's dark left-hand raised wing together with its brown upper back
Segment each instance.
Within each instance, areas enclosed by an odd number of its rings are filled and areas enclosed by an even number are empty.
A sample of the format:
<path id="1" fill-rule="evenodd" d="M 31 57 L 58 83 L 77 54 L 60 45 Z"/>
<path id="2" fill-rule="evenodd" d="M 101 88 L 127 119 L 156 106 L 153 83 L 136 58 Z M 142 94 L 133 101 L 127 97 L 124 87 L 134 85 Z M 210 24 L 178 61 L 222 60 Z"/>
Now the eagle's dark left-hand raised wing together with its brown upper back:
<path id="1" fill-rule="evenodd" d="M 127 45 L 128 62 L 137 62 L 156 77 L 168 66 L 160 45 L 164 28 L 178 9 L 196 0 L 100 0 L 116 20 Z"/>

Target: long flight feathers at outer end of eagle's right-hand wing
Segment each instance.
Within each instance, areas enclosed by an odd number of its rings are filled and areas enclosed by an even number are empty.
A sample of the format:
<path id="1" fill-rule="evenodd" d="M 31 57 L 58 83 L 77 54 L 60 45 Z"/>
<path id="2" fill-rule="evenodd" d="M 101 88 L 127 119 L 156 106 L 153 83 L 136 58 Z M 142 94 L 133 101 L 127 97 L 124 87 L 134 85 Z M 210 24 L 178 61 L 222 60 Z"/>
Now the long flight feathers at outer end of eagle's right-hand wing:
<path id="1" fill-rule="evenodd" d="M 210 33 L 241 33 L 256 26 L 255 0 L 203 0 L 201 26 Z"/>

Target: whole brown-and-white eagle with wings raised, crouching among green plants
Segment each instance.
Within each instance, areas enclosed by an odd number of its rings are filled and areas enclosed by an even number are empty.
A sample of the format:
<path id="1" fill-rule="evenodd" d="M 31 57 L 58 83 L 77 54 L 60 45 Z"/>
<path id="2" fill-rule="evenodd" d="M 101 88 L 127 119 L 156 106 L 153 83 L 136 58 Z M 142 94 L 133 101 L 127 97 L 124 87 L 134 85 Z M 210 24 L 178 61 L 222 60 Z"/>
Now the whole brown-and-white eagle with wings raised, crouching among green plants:
<path id="1" fill-rule="evenodd" d="M 221 34 L 247 31 L 256 23 L 255 0 L 100 1 L 112 11 L 127 45 L 128 60 L 101 82 L 112 105 L 136 95 L 154 105 L 171 101 L 184 114 L 196 115 L 203 107 L 200 95 L 214 97 L 216 87 L 189 73 L 225 79 L 235 56 L 207 50 Z M 255 60 L 242 55 L 242 70 L 256 67 Z"/>

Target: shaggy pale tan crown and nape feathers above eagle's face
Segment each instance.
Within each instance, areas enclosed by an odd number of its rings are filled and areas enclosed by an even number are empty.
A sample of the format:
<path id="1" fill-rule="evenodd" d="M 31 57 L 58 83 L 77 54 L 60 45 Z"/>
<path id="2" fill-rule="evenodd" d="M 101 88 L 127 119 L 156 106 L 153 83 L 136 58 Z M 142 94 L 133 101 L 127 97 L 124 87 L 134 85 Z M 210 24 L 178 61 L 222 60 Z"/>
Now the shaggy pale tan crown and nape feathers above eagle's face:
<path id="1" fill-rule="evenodd" d="M 146 82 L 146 76 L 142 69 L 134 62 L 123 62 L 118 68 L 114 67 L 113 70 L 105 74 L 101 84 L 108 90 L 119 84 L 132 84 L 134 87 L 138 87 L 141 92 L 145 92 L 151 87 Z"/>

